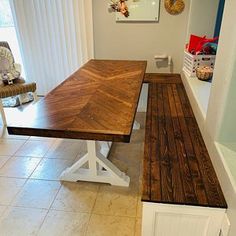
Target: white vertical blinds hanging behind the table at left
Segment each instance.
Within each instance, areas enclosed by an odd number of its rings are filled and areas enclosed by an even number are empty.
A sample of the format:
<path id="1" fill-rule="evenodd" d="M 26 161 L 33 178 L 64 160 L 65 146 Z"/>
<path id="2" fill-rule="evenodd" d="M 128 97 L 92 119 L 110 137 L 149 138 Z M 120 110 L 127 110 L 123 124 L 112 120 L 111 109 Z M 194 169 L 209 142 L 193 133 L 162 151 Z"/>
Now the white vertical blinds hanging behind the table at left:
<path id="1" fill-rule="evenodd" d="M 93 58 L 92 0 L 10 0 L 26 79 L 45 95 Z"/>

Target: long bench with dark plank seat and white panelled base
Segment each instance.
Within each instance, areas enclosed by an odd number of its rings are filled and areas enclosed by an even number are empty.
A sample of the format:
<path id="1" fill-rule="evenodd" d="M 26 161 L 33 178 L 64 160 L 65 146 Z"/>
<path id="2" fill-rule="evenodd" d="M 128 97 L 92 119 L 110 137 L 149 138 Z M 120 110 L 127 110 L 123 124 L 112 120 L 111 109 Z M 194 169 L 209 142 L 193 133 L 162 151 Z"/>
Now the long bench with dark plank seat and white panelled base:
<path id="1" fill-rule="evenodd" d="M 145 81 L 143 236 L 219 235 L 227 204 L 181 77 Z"/>

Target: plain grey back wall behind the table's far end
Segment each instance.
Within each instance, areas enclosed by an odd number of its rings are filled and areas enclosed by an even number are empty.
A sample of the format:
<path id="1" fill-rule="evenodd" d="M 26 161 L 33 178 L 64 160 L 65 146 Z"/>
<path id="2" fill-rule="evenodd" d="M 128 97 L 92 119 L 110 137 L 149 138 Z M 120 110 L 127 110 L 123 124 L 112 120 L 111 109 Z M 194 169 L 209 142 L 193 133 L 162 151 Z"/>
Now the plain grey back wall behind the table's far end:
<path id="1" fill-rule="evenodd" d="M 93 0 L 95 58 L 144 59 L 147 72 L 170 72 L 167 63 L 158 68 L 155 54 L 173 57 L 173 71 L 182 69 L 183 50 L 189 13 L 189 1 L 182 14 L 172 16 L 160 6 L 159 23 L 116 23 L 115 13 L 108 12 L 108 0 Z"/>

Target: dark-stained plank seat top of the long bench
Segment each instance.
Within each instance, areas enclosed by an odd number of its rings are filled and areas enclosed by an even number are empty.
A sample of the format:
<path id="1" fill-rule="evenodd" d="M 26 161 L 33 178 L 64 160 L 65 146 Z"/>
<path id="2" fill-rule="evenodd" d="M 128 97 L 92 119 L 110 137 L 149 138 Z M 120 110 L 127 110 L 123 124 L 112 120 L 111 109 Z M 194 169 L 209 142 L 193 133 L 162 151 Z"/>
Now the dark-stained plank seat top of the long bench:
<path id="1" fill-rule="evenodd" d="M 181 83 L 149 83 L 145 135 L 143 201 L 227 208 Z"/>

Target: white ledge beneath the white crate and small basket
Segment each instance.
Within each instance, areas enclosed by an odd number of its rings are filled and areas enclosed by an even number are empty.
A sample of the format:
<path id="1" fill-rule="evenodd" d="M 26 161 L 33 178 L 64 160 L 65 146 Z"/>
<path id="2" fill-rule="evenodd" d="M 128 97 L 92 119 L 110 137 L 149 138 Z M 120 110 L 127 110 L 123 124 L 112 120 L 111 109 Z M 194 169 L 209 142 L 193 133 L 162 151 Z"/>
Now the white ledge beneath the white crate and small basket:
<path id="1" fill-rule="evenodd" d="M 185 72 L 183 73 L 183 80 L 185 80 L 183 82 L 185 84 L 187 83 L 189 88 L 191 89 L 194 99 L 198 104 L 203 118 L 205 119 L 211 92 L 211 83 L 207 81 L 201 81 L 197 77 L 190 77 Z"/>

